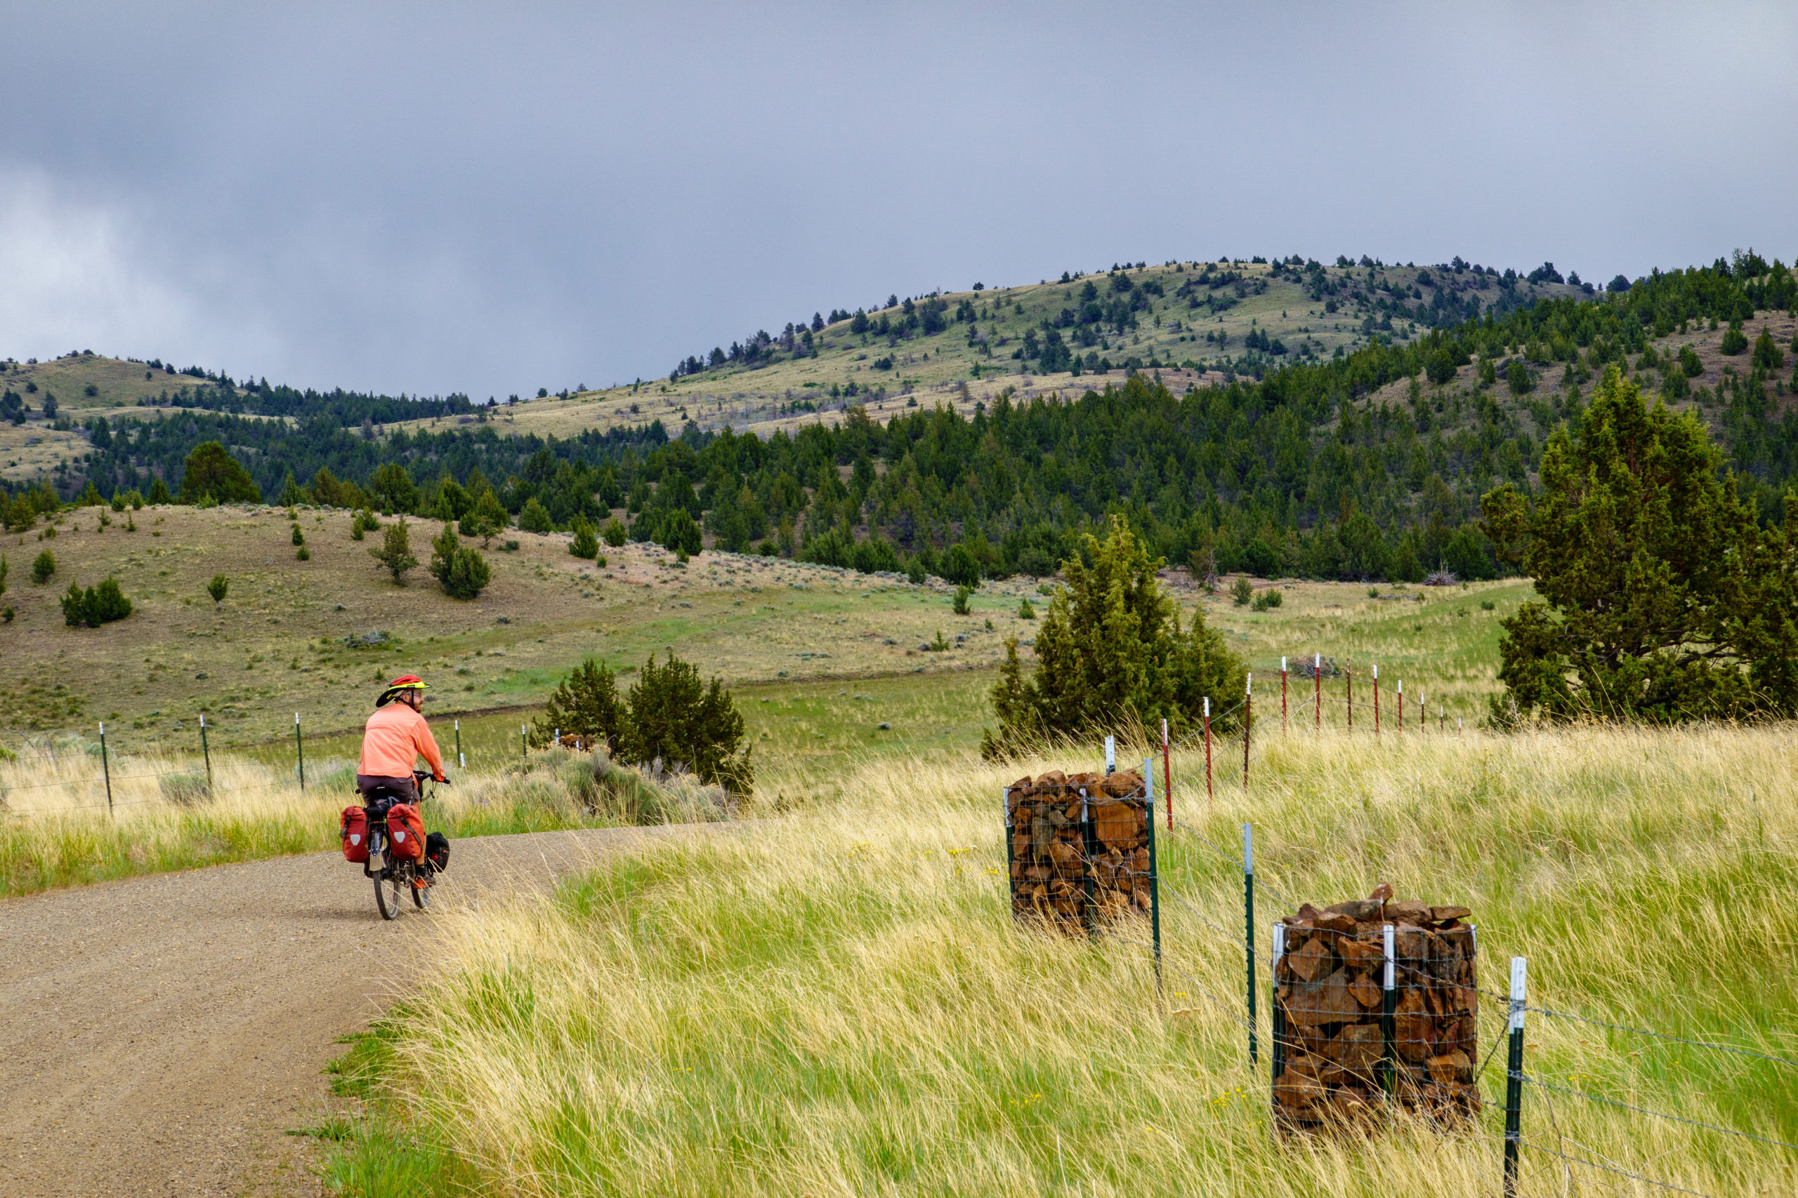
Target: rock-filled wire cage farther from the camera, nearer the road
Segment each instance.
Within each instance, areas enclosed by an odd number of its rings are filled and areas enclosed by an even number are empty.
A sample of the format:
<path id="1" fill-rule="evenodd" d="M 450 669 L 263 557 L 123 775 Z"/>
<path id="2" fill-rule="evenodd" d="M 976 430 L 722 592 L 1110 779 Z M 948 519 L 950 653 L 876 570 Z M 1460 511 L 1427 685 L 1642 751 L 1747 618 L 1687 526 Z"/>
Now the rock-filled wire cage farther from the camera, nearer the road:
<path id="1" fill-rule="evenodd" d="M 1093 934 L 1156 916 L 1154 797 L 1144 774 L 1048 771 L 1005 788 L 1012 916 Z"/>

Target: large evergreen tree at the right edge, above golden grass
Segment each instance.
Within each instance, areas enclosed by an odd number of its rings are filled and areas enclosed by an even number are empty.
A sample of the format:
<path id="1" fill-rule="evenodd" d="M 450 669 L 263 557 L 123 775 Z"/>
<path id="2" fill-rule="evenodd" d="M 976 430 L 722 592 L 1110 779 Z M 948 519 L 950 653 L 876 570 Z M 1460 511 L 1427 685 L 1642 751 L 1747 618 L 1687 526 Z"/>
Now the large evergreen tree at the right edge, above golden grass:
<path id="1" fill-rule="evenodd" d="M 1509 485 L 1482 501 L 1543 596 L 1503 621 L 1494 718 L 1798 713 L 1798 496 L 1760 528 L 1705 426 L 1616 366 L 1541 476 L 1534 505 Z"/>

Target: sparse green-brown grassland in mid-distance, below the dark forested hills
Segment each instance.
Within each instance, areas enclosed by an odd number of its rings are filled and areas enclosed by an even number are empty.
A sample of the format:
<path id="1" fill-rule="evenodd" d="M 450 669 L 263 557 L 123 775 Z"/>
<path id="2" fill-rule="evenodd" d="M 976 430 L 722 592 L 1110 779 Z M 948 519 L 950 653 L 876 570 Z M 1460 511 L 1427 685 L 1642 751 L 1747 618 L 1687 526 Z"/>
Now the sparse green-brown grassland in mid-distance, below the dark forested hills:
<path id="1" fill-rule="evenodd" d="M 52 524 L 54 537 L 0 541 L 13 566 L 5 603 L 16 609 L 0 625 L 0 747 L 32 735 L 92 735 L 106 720 L 124 747 L 189 753 L 200 747 L 201 715 L 216 747 L 291 742 L 295 713 L 309 736 L 327 736 L 360 729 L 381 683 L 408 672 L 432 683 L 437 718 L 505 709 L 493 720 L 494 744 L 503 744 L 498 729 L 516 731 L 584 656 L 633 670 L 672 650 L 734 686 L 840 679 L 836 690 L 872 693 L 876 679 L 992 670 L 1007 636 L 1028 657 L 1036 623 L 1018 605 L 1025 596 L 1043 605 L 1034 578 L 989 582 L 971 614 L 957 616 L 942 582 L 913 587 L 717 551 L 680 568 L 660 548 L 636 544 L 610 550 L 597 568 L 568 555 L 566 535 L 534 533 L 518 533 L 516 551 L 489 551 L 491 586 L 458 602 L 423 571 L 394 587 L 369 557 L 370 542 L 351 539 L 349 514 L 298 512 L 298 523 L 307 562 L 295 560 L 279 508 L 77 508 Z M 423 557 L 435 530 L 414 526 Z M 58 568 L 38 586 L 31 560 L 41 550 Z M 230 578 L 219 607 L 205 595 L 214 573 Z M 133 614 L 101 629 L 65 627 L 58 600 L 68 582 L 106 577 L 119 580 Z M 1451 717 L 1483 709 L 1496 621 L 1528 593 L 1527 584 L 1381 587 L 1384 598 L 1374 600 L 1366 586 L 1293 582 L 1280 584 L 1282 607 L 1255 612 L 1201 593 L 1185 571 L 1165 571 L 1165 582 L 1183 618 L 1203 607 L 1257 677 L 1277 670 L 1282 654 L 1377 659 L 1383 677 L 1404 677 L 1413 695 L 1424 686 L 1451 704 Z M 949 648 L 924 650 L 939 632 Z M 370 634 L 385 639 L 352 647 Z M 966 731 L 964 708 L 946 699 L 928 722 Z M 847 697 L 832 718 L 843 727 L 879 722 L 863 720 Z M 485 722 L 473 724 L 485 738 Z"/>

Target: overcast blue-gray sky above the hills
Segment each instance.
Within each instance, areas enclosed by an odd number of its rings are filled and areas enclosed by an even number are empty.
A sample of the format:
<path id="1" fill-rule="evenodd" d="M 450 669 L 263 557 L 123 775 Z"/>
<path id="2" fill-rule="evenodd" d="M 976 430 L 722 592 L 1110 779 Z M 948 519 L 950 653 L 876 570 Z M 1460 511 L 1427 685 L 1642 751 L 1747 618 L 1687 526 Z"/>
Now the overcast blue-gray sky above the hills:
<path id="1" fill-rule="evenodd" d="M 484 399 L 1131 259 L 1794 253 L 1793 4 L 0 14 L 22 359 Z"/>

